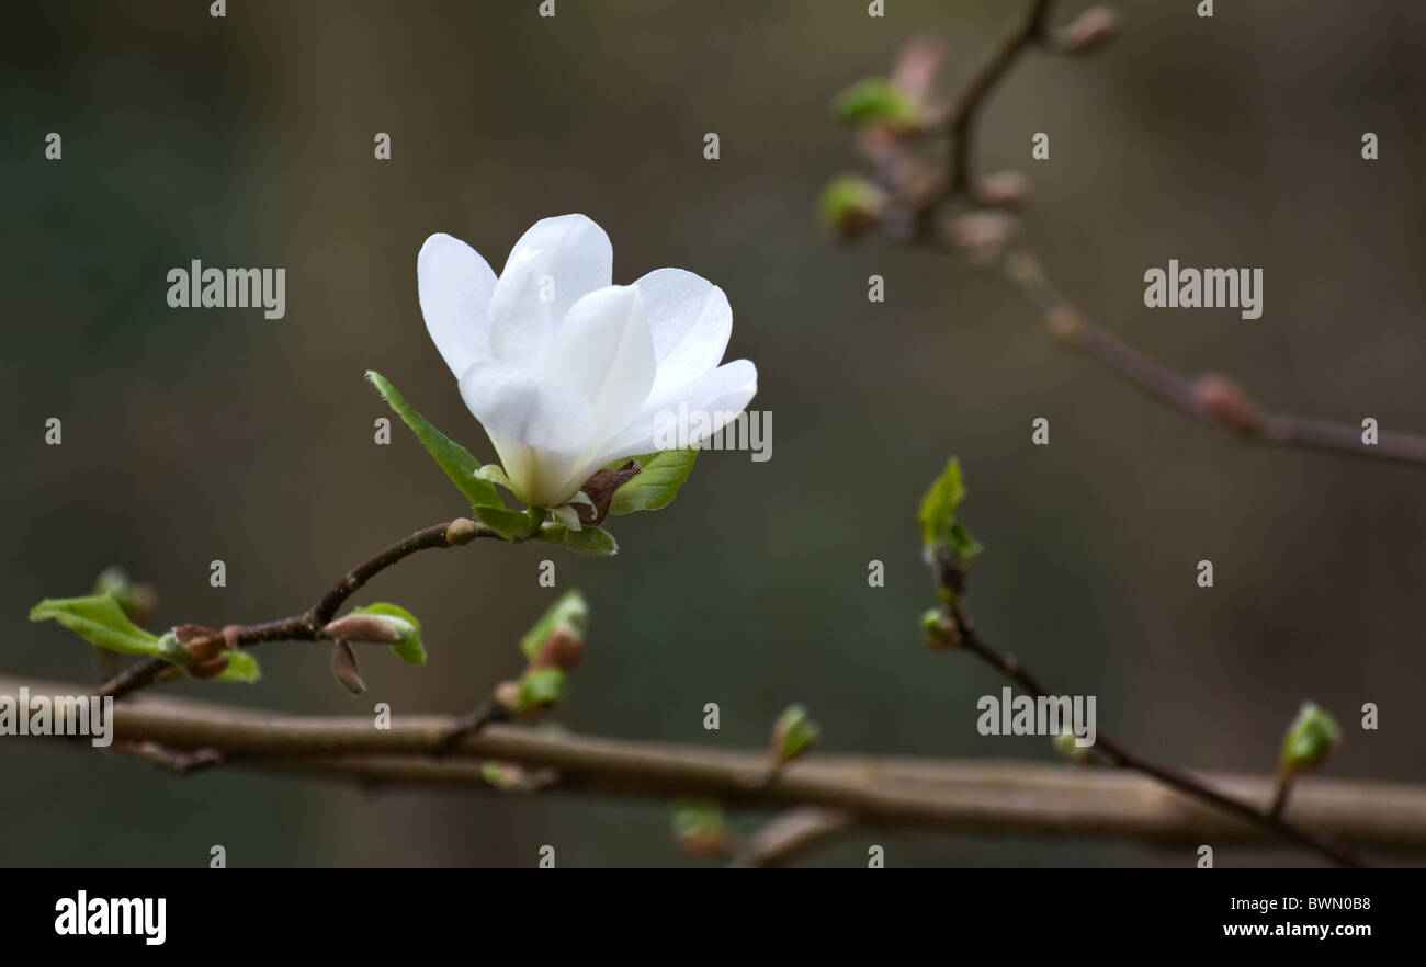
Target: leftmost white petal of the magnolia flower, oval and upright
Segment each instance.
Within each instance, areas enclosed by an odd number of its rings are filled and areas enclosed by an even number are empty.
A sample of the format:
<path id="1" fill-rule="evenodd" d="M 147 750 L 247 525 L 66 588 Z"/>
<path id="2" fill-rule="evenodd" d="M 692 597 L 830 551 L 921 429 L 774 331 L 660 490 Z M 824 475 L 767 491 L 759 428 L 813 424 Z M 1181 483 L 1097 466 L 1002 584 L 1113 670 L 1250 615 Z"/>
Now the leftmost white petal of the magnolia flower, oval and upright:
<path id="1" fill-rule="evenodd" d="M 416 288 L 431 341 L 456 379 L 476 359 L 489 358 L 495 272 L 479 252 L 459 238 L 432 235 L 416 255 Z"/>

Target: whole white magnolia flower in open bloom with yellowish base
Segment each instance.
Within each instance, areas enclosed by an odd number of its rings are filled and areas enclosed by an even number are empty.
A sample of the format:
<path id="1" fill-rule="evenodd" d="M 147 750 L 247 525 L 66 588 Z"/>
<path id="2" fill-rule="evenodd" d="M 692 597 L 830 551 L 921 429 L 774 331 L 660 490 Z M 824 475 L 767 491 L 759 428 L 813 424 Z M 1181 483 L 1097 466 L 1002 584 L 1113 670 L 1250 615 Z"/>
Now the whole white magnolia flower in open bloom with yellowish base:
<path id="1" fill-rule="evenodd" d="M 499 278 L 445 234 L 416 258 L 426 329 L 535 506 L 566 503 L 615 459 L 697 444 L 757 392 L 752 362 L 719 365 L 733 331 L 723 290 L 682 268 L 612 285 L 612 267 L 585 215 L 535 222 Z"/>

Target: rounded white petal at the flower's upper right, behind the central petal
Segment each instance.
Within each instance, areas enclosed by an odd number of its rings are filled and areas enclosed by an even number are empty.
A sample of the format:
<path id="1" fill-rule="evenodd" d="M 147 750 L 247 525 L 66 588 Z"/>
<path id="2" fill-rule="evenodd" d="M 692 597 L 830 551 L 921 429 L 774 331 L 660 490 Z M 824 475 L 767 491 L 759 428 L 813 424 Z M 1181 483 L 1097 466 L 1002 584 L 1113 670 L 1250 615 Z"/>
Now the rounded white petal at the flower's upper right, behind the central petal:
<path id="1" fill-rule="evenodd" d="M 659 268 L 635 285 L 643 295 L 653 354 L 655 395 L 692 382 L 719 364 L 733 332 L 733 309 L 713 282 L 682 268 Z"/>

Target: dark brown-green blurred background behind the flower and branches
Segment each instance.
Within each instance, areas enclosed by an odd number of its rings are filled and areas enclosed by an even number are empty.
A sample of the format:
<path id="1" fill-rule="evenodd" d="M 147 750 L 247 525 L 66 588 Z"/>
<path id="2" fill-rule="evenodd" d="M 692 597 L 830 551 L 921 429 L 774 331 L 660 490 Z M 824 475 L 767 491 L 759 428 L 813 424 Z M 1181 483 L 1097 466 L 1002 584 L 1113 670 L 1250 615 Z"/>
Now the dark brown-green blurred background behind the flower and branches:
<path id="1" fill-rule="evenodd" d="M 615 281 L 677 265 L 727 291 L 729 358 L 757 362 L 773 459 L 706 454 L 667 511 L 613 522 L 613 559 L 478 545 L 386 572 L 358 602 L 415 612 L 431 662 L 366 659 L 359 700 L 302 645 L 264 646 L 257 686 L 173 692 L 459 712 L 519 670 L 518 636 L 578 586 L 593 618 L 570 729 L 761 746 L 801 700 L 830 753 L 1050 760 L 1042 739 L 977 735 L 975 699 L 1001 682 L 920 643 L 934 599 L 915 503 L 955 452 L 987 545 L 981 629 L 1097 695 L 1101 729 L 1188 767 L 1268 772 L 1315 699 L 1346 733 L 1328 774 L 1422 779 L 1420 471 L 1241 444 L 1067 355 L 994 278 L 819 230 L 820 187 L 857 164 L 829 100 L 921 33 L 947 43 L 950 86 L 1020 6 L 891 0 L 870 19 L 864 0 L 558 0 L 542 19 L 538 0 L 245 1 L 220 20 L 202 3 L 9 4 L 0 669 L 93 680 L 88 648 L 26 612 L 87 593 L 107 565 L 157 585 L 163 626 L 254 622 L 461 513 L 404 426 L 374 445 L 388 411 L 362 371 L 491 459 L 426 338 L 416 250 L 449 231 L 499 268 L 536 218 L 582 211 L 613 240 Z M 1426 431 L 1426 9 L 1261 0 L 1202 20 L 1194 6 L 1119 4 L 1107 53 L 1022 63 L 983 117 L 980 170 L 1032 175 L 1025 231 L 1050 272 L 1181 372 Z M 391 161 L 372 157 L 378 131 Z M 1051 133 L 1048 163 L 1030 161 L 1035 131 Z M 1360 158 L 1363 131 L 1379 161 Z M 287 318 L 170 309 L 165 274 L 194 258 L 285 267 Z M 1145 309 L 1142 274 L 1169 258 L 1262 267 L 1262 319 Z M 48 416 L 61 446 L 44 445 Z M 1048 448 L 1030 445 L 1035 416 Z M 208 586 L 215 558 L 224 589 Z M 536 585 L 542 558 L 556 590 Z M 871 559 L 884 588 L 867 586 Z M 722 732 L 703 732 L 706 702 Z M 1363 702 L 1379 732 L 1358 727 Z M 10 866 L 198 866 L 214 843 L 232 866 L 532 866 L 545 843 L 560 866 L 694 863 L 656 803 L 175 780 L 17 740 L 0 742 L 0 777 Z M 886 830 L 807 861 L 864 863 L 868 841 L 893 866 L 1192 861 Z"/>

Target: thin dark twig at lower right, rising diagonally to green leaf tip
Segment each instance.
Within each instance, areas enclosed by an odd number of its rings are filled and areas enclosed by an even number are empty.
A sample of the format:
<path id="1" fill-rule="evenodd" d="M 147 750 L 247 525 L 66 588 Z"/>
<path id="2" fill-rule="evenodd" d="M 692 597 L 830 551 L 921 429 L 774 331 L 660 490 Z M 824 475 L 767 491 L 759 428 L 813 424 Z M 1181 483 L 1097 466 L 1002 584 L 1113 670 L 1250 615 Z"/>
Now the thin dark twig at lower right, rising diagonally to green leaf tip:
<path id="1" fill-rule="evenodd" d="M 1021 665 L 1015 656 L 997 650 L 980 636 L 980 632 L 975 630 L 975 623 L 971 620 L 970 612 L 965 609 L 965 573 L 957 568 L 948 552 L 943 549 L 935 556 L 933 568 L 935 571 L 937 586 L 951 600 L 951 605 L 947 608 L 947 615 L 955 626 L 957 648 L 968 650 L 971 655 L 1008 677 L 1037 699 L 1062 695 L 1041 682 L 1040 677 Z M 1312 832 L 1302 824 L 1288 822 L 1279 814 L 1259 810 L 1248 802 L 1242 802 L 1214 789 L 1195 776 L 1171 769 L 1169 766 L 1161 766 L 1135 752 L 1131 752 L 1104 730 L 1098 730 L 1095 733 L 1094 752 L 1099 757 L 1108 760 L 1111 766 L 1142 773 L 1144 776 L 1184 793 L 1185 796 L 1191 796 L 1202 803 L 1206 803 L 1214 809 L 1236 816 L 1243 822 L 1255 823 L 1275 836 L 1310 849 L 1333 863 L 1350 867 L 1373 866 L 1366 857 L 1352 853 L 1329 836 Z"/>

